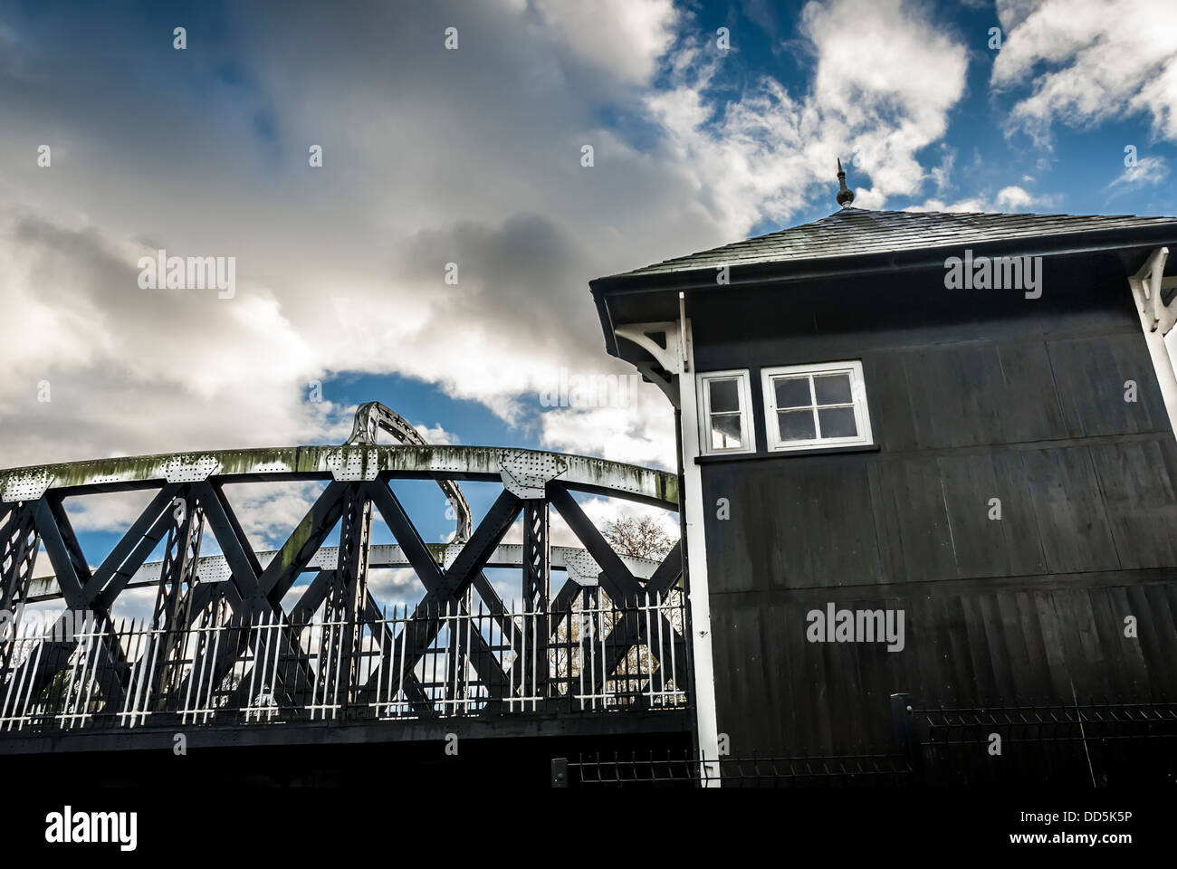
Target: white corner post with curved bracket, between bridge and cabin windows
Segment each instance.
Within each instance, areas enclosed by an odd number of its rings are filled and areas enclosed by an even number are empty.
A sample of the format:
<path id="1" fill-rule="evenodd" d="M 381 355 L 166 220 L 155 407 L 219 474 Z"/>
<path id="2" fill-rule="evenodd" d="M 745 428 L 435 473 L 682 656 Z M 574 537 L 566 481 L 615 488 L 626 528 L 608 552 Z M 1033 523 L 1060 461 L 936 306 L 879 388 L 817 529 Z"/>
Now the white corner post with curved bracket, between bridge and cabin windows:
<path id="1" fill-rule="evenodd" d="M 691 661 L 694 670 L 694 717 L 703 765 L 703 784 L 719 787 L 719 724 L 716 712 L 716 668 L 711 651 L 711 597 L 707 583 L 707 542 L 704 528 L 703 473 L 696 458 L 699 447 L 699 403 L 694 379 L 694 347 L 691 321 L 683 312 L 679 294 L 677 323 L 643 323 L 618 326 L 614 332 L 644 347 L 678 382 L 678 407 L 683 430 L 683 525 L 686 529 L 686 560 L 691 591 Z M 650 336 L 664 334 L 663 347 Z M 673 400 L 673 397 L 672 399 Z"/>

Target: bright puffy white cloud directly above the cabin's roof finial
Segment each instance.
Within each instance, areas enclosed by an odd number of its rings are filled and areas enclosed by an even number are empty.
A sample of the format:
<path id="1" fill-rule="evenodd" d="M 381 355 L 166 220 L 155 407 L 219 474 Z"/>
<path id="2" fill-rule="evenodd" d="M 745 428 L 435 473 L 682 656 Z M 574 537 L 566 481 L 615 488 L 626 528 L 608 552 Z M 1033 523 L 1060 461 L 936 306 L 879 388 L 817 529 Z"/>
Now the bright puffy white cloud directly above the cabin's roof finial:
<path id="1" fill-rule="evenodd" d="M 916 153 L 943 137 L 967 65 L 964 46 L 925 13 L 902 0 L 810 2 L 800 32 L 816 58 L 812 91 L 794 95 L 763 79 L 717 119 L 709 99 L 714 65 L 699 62 L 703 49 L 685 49 L 697 62 L 646 106 L 684 181 L 729 237 L 760 219 L 787 219 L 813 185 L 829 195 L 838 155 L 871 178 L 858 205 L 879 207 L 919 190 L 926 173 Z"/>

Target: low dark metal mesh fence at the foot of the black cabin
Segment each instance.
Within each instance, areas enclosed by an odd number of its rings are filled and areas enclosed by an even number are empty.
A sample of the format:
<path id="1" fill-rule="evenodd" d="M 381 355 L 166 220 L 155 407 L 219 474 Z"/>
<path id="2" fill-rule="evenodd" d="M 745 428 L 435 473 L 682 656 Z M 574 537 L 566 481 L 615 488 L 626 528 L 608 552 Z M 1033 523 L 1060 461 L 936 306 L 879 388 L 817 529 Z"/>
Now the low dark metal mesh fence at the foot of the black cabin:
<path id="1" fill-rule="evenodd" d="M 891 754 L 724 756 L 718 763 L 700 763 L 691 752 L 581 754 L 552 761 L 552 784 L 699 787 L 718 780 L 724 788 L 1049 783 L 1090 789 L 1177 782 L 1177 703 L 944 705 L 896 694 L 891 715 Z"/>

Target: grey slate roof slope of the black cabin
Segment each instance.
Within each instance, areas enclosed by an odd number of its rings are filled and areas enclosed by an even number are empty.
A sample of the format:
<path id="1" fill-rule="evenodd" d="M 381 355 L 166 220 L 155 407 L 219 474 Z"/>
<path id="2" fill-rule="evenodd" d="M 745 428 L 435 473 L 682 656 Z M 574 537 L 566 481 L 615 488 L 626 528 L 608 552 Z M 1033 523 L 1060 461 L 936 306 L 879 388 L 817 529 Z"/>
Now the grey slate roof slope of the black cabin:
<path id="1" fill-rule="evenodd" d="M 1170 225 L 1177 218 L 1072 214 L 985 214 L 840 208 L 800 226 L 710 251 L 676 257 L 614 278 L 665 274 L 720 265 L 789 263 L 930 247 L 959 247 L 1018 238 L 1045 238 L 1096 230 Z"/>

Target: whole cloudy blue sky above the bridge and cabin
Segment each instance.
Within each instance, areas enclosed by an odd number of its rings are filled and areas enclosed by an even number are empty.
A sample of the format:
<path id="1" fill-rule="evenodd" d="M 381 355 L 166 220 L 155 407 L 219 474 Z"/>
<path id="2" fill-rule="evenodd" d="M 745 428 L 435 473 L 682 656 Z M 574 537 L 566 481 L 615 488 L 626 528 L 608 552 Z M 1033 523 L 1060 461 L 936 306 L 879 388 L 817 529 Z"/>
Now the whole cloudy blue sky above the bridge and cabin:
<path id="1" fill-rule="evenodd" d="M 337 444 L 379 400 L 672 469 L 654 386 L 545 403 L 633 373 L 591 278 L 824 217 L 838 158 L 856 207 L 1172 215 L 1173 106 L 1172 0 L 0 0 L 0 466 Z M 232 296 L 144 287 L 161 248 Z M 314 493 L 234 503 L 267 548 Z M 145 499 L 89 500 L 97 562 Z"/>

